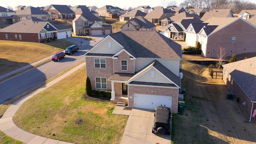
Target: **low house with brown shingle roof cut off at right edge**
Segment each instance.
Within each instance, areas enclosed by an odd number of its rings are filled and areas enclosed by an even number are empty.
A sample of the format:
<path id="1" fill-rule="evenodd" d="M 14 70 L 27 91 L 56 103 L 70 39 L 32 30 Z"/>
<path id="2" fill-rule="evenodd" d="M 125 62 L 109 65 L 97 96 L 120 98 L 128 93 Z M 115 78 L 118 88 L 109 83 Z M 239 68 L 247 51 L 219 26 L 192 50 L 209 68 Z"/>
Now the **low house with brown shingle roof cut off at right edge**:
<path id="1" fill-rule="evenodd" d="M 223 81 L 249 122 L 256 122 L 256 117 L 252 116 L 256 109 L 255 62 L 256 57 L 253 57 L 222 65 Z"/>

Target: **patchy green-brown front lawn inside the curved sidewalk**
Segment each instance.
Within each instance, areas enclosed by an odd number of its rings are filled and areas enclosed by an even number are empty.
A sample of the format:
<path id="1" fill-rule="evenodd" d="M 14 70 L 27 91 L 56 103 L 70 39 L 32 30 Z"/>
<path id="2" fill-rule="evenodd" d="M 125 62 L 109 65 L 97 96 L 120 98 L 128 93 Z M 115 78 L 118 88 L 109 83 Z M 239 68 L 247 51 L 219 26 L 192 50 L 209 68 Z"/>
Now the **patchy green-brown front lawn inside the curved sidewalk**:
<path id="1" fill-rule="evenodd" d="M 116 104 L 84 100 L 85 67 L 25 102 L 13 120 L 22 130 L 76 144 L 120 143 L 128 116 Z M 76 124 L 81 118 L 84 122 Z"/>

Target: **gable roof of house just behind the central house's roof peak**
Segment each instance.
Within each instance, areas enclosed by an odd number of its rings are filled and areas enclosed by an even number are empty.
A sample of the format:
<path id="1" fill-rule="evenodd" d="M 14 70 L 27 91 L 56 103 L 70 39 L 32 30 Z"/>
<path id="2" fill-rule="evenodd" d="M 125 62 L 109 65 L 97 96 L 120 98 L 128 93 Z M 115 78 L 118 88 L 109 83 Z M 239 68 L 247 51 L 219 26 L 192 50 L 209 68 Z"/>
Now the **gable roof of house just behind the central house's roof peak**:
<path id="1" fill-rule="evenodd" d="M 138 25 L 134 25 L 133 23 L 131 23 L 131 21 L 136 22 L 136 24 L 138 24 Z M 133 24 L 137 28 L 153 28 L 153 27 L 156 27 L 156 25 L 154 25 L 152 22 L 146 20 L 146 18 L 143 18 L 142 16 L 138 16 L 136 18 L 131 18 L 128 22 Z"/>

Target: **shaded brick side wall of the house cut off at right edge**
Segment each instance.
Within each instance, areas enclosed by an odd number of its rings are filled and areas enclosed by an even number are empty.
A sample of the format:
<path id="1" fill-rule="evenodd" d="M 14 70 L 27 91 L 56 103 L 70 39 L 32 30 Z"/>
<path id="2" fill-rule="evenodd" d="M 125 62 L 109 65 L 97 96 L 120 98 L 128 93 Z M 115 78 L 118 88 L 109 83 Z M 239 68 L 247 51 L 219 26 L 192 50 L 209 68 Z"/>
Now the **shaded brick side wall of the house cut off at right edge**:
<path id="1" fill-rule="evenodd" d="M 251 114 L 251 108 L 252 108 L 252 102 L 251 100 L 248 98 L 248 96 L 246 96 L 246 94 L 244 93 L 244 91 L 240 88 L 240 86 L 238 86 L 238 84 L 233 81 L 233 83 L 231 84 L 231 77 L 232 76 L 228 76 L 228 72 L 226 71 L 225 76 L 224 76 L 224 72 L 225 70 L 223 70 L 223 81 L 226 84 L 226 86 L 228 87 L 228 89 L 230 90 L 230 92 L 234 93 L 235 96 L 235 100 L 238 103 L 238 106 L 244 111 L 244 114 L 246 115 L 246 117 L 248 118 L 248 120 L 250 120 L 250 114 Z M 228 78 L 227 78 L 228 76 Z M 237 101 L 237 99 L 240 99 L 239 102 Z M 246 102 L 246 107 L 244 109 L 244 106 L 242 105 L 243 102 Z M 253 110 L 256 109 L 256 103 L 254 103 L 254 106 L 252 108 L 252 112 Z M 256 122 L 256 117 L 251 119 L 251 121 Z"/>

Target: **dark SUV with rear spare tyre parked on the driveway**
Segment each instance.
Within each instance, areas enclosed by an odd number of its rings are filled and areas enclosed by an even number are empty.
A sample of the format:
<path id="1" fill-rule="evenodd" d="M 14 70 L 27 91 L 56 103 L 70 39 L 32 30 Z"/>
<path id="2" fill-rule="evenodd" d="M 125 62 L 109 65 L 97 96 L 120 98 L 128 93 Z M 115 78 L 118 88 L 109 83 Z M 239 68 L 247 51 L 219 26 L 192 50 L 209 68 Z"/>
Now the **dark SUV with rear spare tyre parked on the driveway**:
<path id="1" fill-rule="evenodd" d="M 154 110 L 154 124 L 152 133 L 171 134 L 170 117 L 171 109 L 165 106 L 157 106 Z"/>

